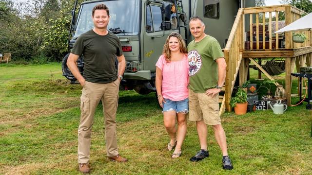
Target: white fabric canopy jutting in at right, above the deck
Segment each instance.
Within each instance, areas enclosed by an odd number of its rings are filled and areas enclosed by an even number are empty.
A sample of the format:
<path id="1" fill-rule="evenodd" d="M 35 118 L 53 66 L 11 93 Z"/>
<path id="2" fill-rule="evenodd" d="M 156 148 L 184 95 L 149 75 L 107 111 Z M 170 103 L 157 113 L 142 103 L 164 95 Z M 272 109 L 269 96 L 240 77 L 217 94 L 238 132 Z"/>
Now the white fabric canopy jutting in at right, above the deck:
<path id="1" fill-rule="evenodd" d="M 283 32 L 311 31 L 311 30 L 312 30 L 312 13 L 297 19 L 296 21 L 290 23 L 289 25 L 274 32 L 274 34 Z"/>

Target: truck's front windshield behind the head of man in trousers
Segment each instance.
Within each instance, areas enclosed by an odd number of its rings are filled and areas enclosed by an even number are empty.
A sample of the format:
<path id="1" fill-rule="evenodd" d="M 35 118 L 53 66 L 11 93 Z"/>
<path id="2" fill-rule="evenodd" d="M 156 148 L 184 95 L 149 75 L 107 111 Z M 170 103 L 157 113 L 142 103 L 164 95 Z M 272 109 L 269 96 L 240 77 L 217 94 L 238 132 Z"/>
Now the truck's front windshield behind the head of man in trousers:
<path id="1" fill-rule="evenodd" d="M 138 35 L 139 0 L 109 0 L 81 5 L 74 37 L 93 29 L 92 8 L 100 3 L 104 3 L 109 9 L 107 30 L 119 27 L 122 32 L 117 35 Z"/>

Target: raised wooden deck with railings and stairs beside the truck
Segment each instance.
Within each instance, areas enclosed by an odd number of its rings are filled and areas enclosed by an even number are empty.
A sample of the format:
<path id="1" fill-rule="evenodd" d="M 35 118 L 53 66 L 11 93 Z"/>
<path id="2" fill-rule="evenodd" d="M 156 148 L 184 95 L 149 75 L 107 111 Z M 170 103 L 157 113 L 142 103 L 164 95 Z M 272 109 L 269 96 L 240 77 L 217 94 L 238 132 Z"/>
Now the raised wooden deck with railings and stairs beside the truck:
<path id="1" fill-rule="evenodd" d="M 236 77 L 239 74 L 239 84 L 242 85 L 247 80 L 247 74 L 249 70 L 250 62 L 253 62 L 262 72 L 271 80 L 273 77 L 262 69 L 262 67 L 254 61 L 255 58 L 285 58 L 285 90 L 287 94 L 288 105 L 291 104 L 291 86 L 292 77 L 291 73 L 296 70 L 299 71 L 300 67 L 312 66 L 312 31 L 306 32 L 295 32 L 304 33 L 308 36 L 304 43 L 294 43 L 292 41 L 292 32 L 286 32 L 285 35 L 285 48 L 279 46 L 280 36 L 279 34 L 273 34 L 272 21 L 275 16 L 275 31 L 278 28 L 278 14 L 285 14 L 285 25 L 292 23 L 293 21 L 302 17 L 306 13 L 292 5 L 275 5 L 275 6 L 265 6 L 265 7 L 250 7 L 239 9 L 236 15 L 231 34 L 229 36 L 226 47 L 224 48 L 224 56 L 227 62 L 227 73 L 225 81 L 225 94 L 223 99 L 220 99 L 221 109 L 220 114 L 225 110 L 231 111 L 230 98 L 233 92 Z M 266 22 L 265 17 L 268 16 L 269 20 Z M 250 22 L 249 29 L 246 29 L 245 22 L 248 19 Z M 260 21 L 260 20 L 261 21 Z M 256 38 L 253 38 L 253 30 L 255 26 Z M 262 27 L 262 29 L 260 28 Z M 266 48 L 266 42 L 263 38 L 266 36 L 266 26 L 268 26 L 269 31 L 269 49 Z M 262 31 L 260 31 L 261 29 Z M 250 32 L 250 48 L 245 49 L 244 35 L 247 30 Z M 262 32 L 262 33 L 261 33 Z M 260 39 L 259 34 L 262 34 L 262 39 Z M 246 37 L 247 38 L 247 37 Z M 273 40 L 277 42 L 273 42 Z M 254 43 L 255 42 L 255 43 Z M 273 49 L 273 43 L 274 48 Z M 255 44 L 255 46 L 253 45 Z M 264 48 L 260 50 L 259 48 Z M 256 49 L 254 49 L 256 48 Z"/>

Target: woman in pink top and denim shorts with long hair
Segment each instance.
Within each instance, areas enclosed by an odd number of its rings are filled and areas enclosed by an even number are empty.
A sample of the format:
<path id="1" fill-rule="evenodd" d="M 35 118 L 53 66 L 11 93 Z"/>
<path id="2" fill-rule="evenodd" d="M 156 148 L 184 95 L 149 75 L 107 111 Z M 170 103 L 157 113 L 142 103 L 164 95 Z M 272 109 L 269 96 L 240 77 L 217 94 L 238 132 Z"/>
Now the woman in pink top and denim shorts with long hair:
<path id="1" fill-rule="evenodd" d="M 164 125 L 170 136 L 167 149 L 175 149 L 172 158 L 181 156 L 181 147 L 187 131 L 188 70 L 184 40 L 180 34 L 173 32 L 167 37 L 162 55 L 156 63 L 157 97 L 159 105 L 163 108 Z"/>

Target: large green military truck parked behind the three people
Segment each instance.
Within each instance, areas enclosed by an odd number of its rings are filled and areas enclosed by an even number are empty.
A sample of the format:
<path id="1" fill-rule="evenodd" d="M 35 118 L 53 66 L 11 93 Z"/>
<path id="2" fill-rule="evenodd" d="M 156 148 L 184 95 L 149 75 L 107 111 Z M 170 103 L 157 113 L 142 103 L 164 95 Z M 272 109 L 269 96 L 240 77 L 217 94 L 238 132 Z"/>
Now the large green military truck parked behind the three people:
<path id="1" fill-rule="evenodd" d="M 70 27 L 69 49 L 73 47 L 79 35 L 93 28 L 92 8 L 99 3 L 106 4 L 110 9 L 108 29 L 119 37 L 126 58 L 126 70 L 120 88 L 148 94 L 156 91 L 155 64 L 170 33 L 180 33 L 185 42 L 189 43 L 193 38 L 189 32 L 188 20 L 199 16 L 205 23 L 205 32 L 214 36 L 221 48 L 224 48 L 238 9 L 252 7 L 255 1 L 89 0 L 80 4 L 76 15 L 76 0 Z M 249 26 L 248 23 L 246 25 Z M 75 82 L 76 78 L 66 65 L 68 55 L 69 53 L 62 61 L 63 75 Z M 83 55 L 78 59 L 77 66 L 83 74 Z M 117 62 L 115 66 L 117 67 Z"/>

